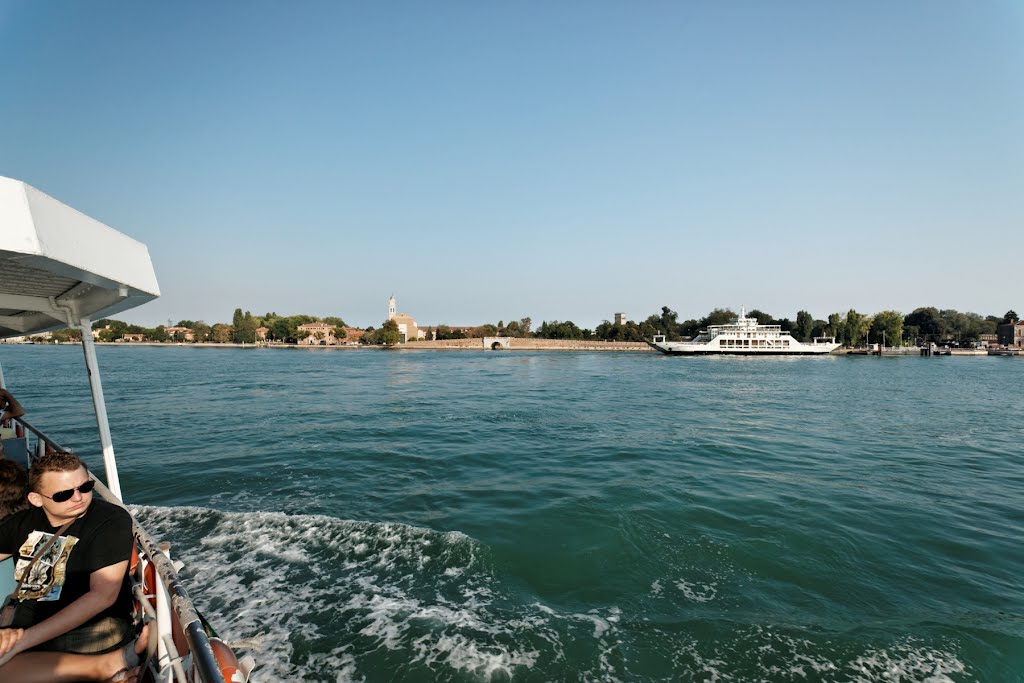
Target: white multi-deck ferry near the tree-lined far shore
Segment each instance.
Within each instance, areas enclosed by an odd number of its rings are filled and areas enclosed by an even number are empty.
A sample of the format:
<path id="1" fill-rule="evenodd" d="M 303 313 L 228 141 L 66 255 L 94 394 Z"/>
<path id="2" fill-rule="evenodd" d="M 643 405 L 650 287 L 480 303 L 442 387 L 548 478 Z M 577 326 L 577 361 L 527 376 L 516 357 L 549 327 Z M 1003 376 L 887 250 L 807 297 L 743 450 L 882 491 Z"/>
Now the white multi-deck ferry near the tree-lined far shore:
<path id="1" fill-rule="evenodd" d="M 815 337 L 810 344 L 798 341 L 778 325 L 761 325 L 756 317 L 739 316 L 729 325 L 713 325 L 690 341 L 667 341 L 655 335 L 647 342 L 670 355 L 820 355 L 839 348 L 835 337 Z"/>

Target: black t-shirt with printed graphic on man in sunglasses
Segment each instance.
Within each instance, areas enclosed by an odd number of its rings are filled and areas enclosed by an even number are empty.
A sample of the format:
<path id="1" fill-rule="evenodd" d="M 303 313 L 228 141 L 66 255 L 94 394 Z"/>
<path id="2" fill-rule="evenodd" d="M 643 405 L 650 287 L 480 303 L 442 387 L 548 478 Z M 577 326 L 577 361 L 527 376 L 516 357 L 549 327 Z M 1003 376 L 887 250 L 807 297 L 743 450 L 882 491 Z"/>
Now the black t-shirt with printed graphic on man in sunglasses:
<path id="1" fill-rule="evenodd" d="M 50 524 L 42 508 L 35 506 L 0 522 L 0 554 L 15 556 L 15 579 L 59 528 Z M 32 575 L 23 582 L 13 626 L 34 626 L 78 600 L 89 592 L 93 571 L 130 559 L 133 543 L 128 511 L 93 499 L 86 513 L 50 546 L 32 567 Z M 126 572 L 118 599 L 86 624 L 106 616 L 130 618 L 131 611 Z"/>

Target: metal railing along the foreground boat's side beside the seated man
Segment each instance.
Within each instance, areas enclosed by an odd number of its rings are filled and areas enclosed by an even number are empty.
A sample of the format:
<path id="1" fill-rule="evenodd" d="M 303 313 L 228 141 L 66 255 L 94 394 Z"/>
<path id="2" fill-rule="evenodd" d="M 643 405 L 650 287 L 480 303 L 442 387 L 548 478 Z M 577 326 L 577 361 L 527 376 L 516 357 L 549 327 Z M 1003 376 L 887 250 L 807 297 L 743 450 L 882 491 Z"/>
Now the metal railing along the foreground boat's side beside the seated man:
<path id="1" fill-rule="evenodd" d="M 38 428 L 34 427 L 25 418 L 14 418 L 14 420 L 25 427 L 27 431 L 32 432 L 36 436 L 35 449 L 29 450 L 30 463 L 33 458 L 40 458 L 48 451 L 70 453 L 68 449 L 65 449 Z M 122 508 L 125 507 L 124 503 L 118 500 L 101 481 L 96 481 L 96 490 L 108 502 Z M 203 627 L 203 620 L 196 610 L 196 606 L 193 604 L 191 598 L 188 597 L 188 593 L 185 591 L 180 579 L 178 579 L 174 563 L 167 555 L 169 545 L 156 543 L 145 529 L 142 528 L 141 524 L 138 523 L 135 515 L 132 515 L 132 533 L 135 537 L 135 545 L 138 547 L 140 554 L 156 569 L 158 586 L 156 587 L 157 593 L 155 596 L 145 594 L 142 582 L 133 582 L 135 598 L 145 611 L 148 620 L 157 625 L 157 631 L 160 634 L 164 650 L 167 653 L 166 663 L 163 661 L 164 657 L 160 657 L 156 663 L 160 671 L 157 672 L 155 680 L 174 681 L 175 683 L 189 683 L 191 680 L 202 681 L 203 683 L 225 683 L 220 665 L 214 655 L 213 646 L 210 644 L 210 638 Z M 156 607 L 150 603 L 150 600 L 154 597 L 156 598 Z M 174 645 L 171 635 L 172 629 L 167 624 L 170 621 L 170 610 L 173 610 L 177 617 L 178 626 L 180 626 L 184 634 L 185 642 L 188 645 L 189 654 L 191 655 L 191 666 L 198 674 L 196 679 L 190 679 L 185 674 L 182 656 Z M 166 616 L 161 612 L 164 612 Z"/>

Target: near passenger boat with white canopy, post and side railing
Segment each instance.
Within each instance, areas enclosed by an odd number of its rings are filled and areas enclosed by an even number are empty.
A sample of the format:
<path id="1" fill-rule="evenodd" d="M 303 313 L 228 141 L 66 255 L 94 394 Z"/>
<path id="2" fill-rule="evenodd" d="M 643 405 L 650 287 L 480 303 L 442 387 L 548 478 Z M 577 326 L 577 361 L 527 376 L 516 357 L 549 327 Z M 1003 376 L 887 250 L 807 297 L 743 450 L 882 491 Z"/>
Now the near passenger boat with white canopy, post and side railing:
<path id="1" fill-rule="evenodd" d="M 97 481 L 96 490 L 123 506 L 92 321 L 160 296 L 150 252 L 145 245 L 12 178 L 0 177 L 0 338 L 63 328 L 82 333 L 105 471 L 105 485 Z M 3 379 L 0 369 L 0 385 Z M 4 441 L 8 457 L 30 464 L 43 454 L 66 451 L 25 418 L 14 421 L 9 430 L 13 433 Z M 151 625 L 150 656 L 139 680 L 245 683 L 252 658 L 240 663 L 212 635 L 178 579 L 180 565 L 171 561 L 169 545 L 158 544 L 133 520 L 138 555 L 133 593 Z"/>

